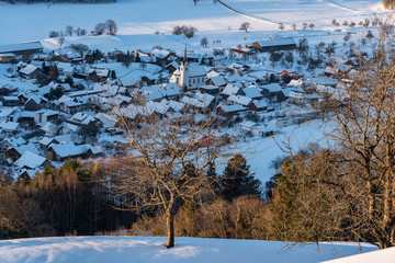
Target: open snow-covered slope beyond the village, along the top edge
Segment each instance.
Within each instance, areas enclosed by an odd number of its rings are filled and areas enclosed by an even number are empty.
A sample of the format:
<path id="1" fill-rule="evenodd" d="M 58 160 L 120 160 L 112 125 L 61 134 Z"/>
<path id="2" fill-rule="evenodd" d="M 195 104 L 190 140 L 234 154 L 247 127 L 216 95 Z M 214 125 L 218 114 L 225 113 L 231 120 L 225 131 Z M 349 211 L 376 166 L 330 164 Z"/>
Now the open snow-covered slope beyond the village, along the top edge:
<path id="1" fill-rule="evenodd" d="M 49 31 L 64 31 L 67 25 L 75 28 L 84 27 L 90 32 L 94 25 L 113 19 L 119 25 L 121 37 L 110 39 L 114 47 L 122 44 L 155 45 L 163 42 L 185 42 L 184 37 L 171 35 L 176 25 L 193 25 L 198 35 L 224 38 L 222 44 L 230 42 L 229 36 L 236 34 L 240 39 L 250 34 L 238 31 L 242 22 L 251 25 L 252 35 L 279 33 L 275 23 L 264 20 L 283 22 L 285 31 L 290 25 L 314 23 L 316 30 L 330 30 L 330 21 L 363 20 L 373 12 L 382 12 L 380 0 L 224 0 L 224 3 L 242 12 L 240 15 L 221 3 L 213 4 L 212 0 L 201 0 L 198 5 L 192 0 L 119 0 L 116 3 L 105 4 L 9 4 L 0 2 L 2 15 L 0 18 L 0 45 L 48 37 Z M 155 36 L 155 32 L 165 35 Z M 255 33 L 253 33 L 255 32 Z M 291 32 L 294 34 L 295 32 Z M 290 33 L 286 33 L 290 34 Z M 135 36 L 132 39 L 124 36 Z M 149 42 L 147 42 L 149 41 Z M 195 38 L 189 42 L 199 42 Z M 154 42 L 154 43 L 153 43 Z M 234 43 L 227 43 L 234 45 Z M 131 48 L 131 47 L 129 47 Z"/>

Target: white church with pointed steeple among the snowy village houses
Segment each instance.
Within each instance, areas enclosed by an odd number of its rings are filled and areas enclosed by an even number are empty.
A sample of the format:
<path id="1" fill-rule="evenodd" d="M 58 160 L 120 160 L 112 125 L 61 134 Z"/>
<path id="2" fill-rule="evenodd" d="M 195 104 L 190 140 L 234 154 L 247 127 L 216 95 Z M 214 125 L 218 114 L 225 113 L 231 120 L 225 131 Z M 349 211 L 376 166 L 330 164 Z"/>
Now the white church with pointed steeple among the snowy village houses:
<path id="1" fill-rule="evenodd" d="M 177 83 L 183 89 L 198 89 L 204 85 L 206 81 L 206 71 L 203 66 L 190 65 L 187 61 L 187 48 L 184 58 L 179 69 L 170 77 L 170 83 Z"/>

